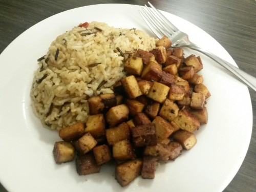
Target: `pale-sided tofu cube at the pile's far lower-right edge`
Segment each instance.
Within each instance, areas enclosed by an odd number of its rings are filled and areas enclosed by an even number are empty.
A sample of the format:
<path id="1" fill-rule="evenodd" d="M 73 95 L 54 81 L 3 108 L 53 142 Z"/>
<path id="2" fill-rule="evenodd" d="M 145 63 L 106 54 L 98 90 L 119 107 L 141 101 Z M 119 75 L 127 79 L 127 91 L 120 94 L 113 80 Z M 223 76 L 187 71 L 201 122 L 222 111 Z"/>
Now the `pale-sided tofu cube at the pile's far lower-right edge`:
<path id="1" fill-rule="evenodd" d="M 173 138 L 179 142 L 185 150 L 190 150 L 196 143 L 197 139 L 194 133 L 180 130 L 174 133 Z"/>

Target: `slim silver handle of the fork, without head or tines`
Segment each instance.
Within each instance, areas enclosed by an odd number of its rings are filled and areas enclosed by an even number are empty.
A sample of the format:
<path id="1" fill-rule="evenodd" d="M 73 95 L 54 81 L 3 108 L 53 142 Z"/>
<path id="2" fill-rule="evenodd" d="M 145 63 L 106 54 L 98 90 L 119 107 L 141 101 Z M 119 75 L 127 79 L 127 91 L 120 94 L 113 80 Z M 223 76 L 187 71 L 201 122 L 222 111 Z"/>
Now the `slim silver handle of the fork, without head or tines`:
<path id="1" fill-rule="evenodd" d="M 249 75 L 248 73 L 242 71 L 241 69 L 231 65 L 229 62 L 221 59 L 217 55 L 202 49 L 201 47 L 197 46 L 196 44 L 193 44 L 190 42 L 189 46 L 187 46 L 190 49 L 197 50 L 211 59 L 214 59 L 216 62 L 220 63 L 222 67 L 227 69 L 229 72 L 231 72 L 234 76 L 236 76 L 240 81 L 242 81 L 244 84 L 246 84 L 247 87 L 251 88 L 252 90 L 256 91 L 256 78 Z"/>

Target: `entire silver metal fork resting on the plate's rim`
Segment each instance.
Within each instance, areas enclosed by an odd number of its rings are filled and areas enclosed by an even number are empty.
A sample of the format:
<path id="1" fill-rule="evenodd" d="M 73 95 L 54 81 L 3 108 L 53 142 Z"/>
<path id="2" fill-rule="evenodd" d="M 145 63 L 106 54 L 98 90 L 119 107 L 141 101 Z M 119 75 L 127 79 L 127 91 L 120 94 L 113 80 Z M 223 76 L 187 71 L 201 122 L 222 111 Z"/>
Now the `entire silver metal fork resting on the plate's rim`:
<path id="1" fill-rule="evenodd" d="M 155 33 L 158 38 L 161 38 L 163 35 L 170 38 L 173 42 L 172 47 L 188 47 L 193 50 L 197 50 L 211 59 L 214 59 L 222 67 L 231 72 L 236 76 L 240 81 L 246 84 L 247 87 L 256 91 L 256 78 L 249 75 L 248 73 L 240 70 L 239 68 L 231 65 L 229 62 L 221 59 L 217 55 L 197 46 L 193 42 L 189 41 L 188 35 L 180 31 L 176 26 L 174 26 L 160 11 L 158 11 L 150 2 L 147 2 L 151 8 L 142 7 L 143 11 L 139 10 L 140 15 L 144 19 L 147 26 Z"/>

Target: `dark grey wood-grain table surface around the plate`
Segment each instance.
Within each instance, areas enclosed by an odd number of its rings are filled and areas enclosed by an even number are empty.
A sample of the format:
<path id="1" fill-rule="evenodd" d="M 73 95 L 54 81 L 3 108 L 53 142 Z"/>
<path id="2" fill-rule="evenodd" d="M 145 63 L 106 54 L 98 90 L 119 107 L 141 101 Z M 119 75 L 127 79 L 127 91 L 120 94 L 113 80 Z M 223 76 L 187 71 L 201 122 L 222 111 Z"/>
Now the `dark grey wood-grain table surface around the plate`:
<path id="1" fill-rule="evenodd" d="M 94 4 L 144 5 L 146 2 L 143 0 L 0 0 L 0 53 L 19 34 L 56 13 Z M 220 42 L 239 68 L 256 76 L 256 1 L 152 0 L 151 3 L 158 9 L 180 16 L 206 31 Z M 249 92 L 253 110 L 253 130 L 249 149 L 239 172 L 224 191 L 256 191 L 256 94 L 252 90 Z M 6 189 L 0 183 L 0 192 L 4 191 L 6 192 Z"/>

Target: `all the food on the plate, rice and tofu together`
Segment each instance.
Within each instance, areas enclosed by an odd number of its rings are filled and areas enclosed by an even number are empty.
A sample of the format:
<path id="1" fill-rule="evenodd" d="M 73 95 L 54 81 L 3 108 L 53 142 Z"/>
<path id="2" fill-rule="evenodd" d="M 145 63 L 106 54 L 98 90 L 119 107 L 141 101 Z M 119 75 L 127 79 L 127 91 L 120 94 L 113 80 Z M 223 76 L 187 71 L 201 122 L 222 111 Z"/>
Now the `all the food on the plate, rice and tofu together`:
<path id="1" fill-rule="evenodd" d="M 174 161 L 195 146 L 195 131 L 208 120 L 210 97 L 198 73 L 203 69 L 199 56 L 170 48 L 165 36 L 154 39 L 97 22 L 65 35 L 39 61 L 31 91 L 35 113 L 62 139 L 53 148 L 57 164 L 75 159 L 78 175 L 88 175 L 114 161 L 115 179 L 126 186 L 140 175 L 154 179 L 158 163 Z M 97 41 L 104 35 L 108 38 Z M 97 46 L 85 40 L 90 38 Z M 74 39 L 83 40 L 75 46 Z M 70 44 L 76 51 L 68 50 Z M 93 56 L 97 49 L 101 54 Z M 63 50 L 68 51 L 59 58 Z"/>

